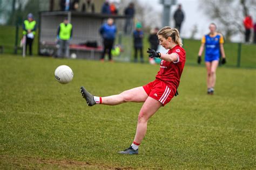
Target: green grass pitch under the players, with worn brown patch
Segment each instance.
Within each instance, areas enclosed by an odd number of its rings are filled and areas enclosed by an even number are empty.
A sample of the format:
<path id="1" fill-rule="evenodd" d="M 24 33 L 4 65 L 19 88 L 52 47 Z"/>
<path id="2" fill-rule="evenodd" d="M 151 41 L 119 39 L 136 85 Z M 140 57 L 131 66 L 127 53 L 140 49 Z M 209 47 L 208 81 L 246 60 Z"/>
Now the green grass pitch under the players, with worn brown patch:
<path id="1" fill-rule="evenodd" d="M 55 81 L 59 65 L 74 79 Z M 159 66 L 0 56 L 0 169 L 255 168 L 255 69 L 218 68 L 206 95 L 204 67 L 185 66 L 178 97 L 149 121 L 139 155 L 119 155 L 142 103 L 87 107 L 79 94 L 107 96 L 154 80 Z"/>

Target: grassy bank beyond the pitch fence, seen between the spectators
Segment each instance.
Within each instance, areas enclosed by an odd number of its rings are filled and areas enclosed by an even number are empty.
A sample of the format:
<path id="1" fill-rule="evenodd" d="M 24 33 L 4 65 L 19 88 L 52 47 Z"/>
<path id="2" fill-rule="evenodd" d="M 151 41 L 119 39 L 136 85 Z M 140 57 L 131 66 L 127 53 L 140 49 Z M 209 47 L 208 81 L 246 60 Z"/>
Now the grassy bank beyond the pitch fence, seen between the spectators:
<path id="1" fill-rule="evenodd" d="M 14 53 L 14 45 L 15 45 L 15 27 L 14 26 L 1 26 L 0 25 L 0 46 L 4 46 L 4 52 L 7 54 Z M 38 31 L 38 30 L 37 30 Z M 22 38 L 22 27 L 19 27 L 19 36 L 18 36 L 18 45 Z M 123 54 L 132 55 L 131 60 L 134 59 L 134 50 L 133 50 L 133 40 L 131 42 L 127 40 L 128 38 L 124 36 L 122 38 L 122 43 L 125 47 Z M 118 38 L 116 39 L 118 42 Z M 146 53 L 147 48 L 150 47 L 148 41 L 148 34 L 145 34 L 145 38 L 143 39 L 143 53 L 144 53 L 144 61 L 148 61 L 148 55 Z M 186 62 L 190 65 L 197 65 L 197 56 L 200 47 L 199 40 L 190 40 L 183 39 L 184 48 L 186 49 Z M 227 56 L 226 66 L 229 67 L 237 67 L 238 60 L 238 44 L 225 42 L 224 44 L 225 53 Z M 33 42 L 33 54 L 37 54 L 38 49 L 38 32 L 37 36 Z M 132 50 L 130 52 L 129 50 Z M 21 54 L 21 50 L 18 51 Z M 122 57 L 125 57 L 122 56 Z M 139 57 L 139 55 L 138 55 Z M 202 64 L 203 65 L 203 64 Z M 241 47 L 241 67 L 244 68 L 256 68 L 256 45 L 245 45 L 242 44 Z"/>

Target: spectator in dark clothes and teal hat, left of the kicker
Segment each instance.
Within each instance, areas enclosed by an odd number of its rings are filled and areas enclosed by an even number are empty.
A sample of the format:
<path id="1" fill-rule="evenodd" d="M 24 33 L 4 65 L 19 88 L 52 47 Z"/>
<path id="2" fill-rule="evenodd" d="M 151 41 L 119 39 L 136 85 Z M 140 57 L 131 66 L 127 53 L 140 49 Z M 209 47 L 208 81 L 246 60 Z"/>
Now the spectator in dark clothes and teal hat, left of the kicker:
<path id="1" fill-rule="evenodd" d="M 138 62 L 138 50 L 140 51 L 140 62 L 144 62 L 143 60 L 143 31 L 142 24 L 136 24 L 136 30 L 133 31 L 133 45 L 134 45 L 134 62 Z"/>

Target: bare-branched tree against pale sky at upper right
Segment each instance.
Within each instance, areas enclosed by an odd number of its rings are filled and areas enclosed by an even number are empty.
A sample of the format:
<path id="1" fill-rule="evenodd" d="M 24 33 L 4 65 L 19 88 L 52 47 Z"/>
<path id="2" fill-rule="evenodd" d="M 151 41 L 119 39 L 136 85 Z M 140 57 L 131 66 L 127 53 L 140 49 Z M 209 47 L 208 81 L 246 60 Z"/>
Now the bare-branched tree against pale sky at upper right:
<path id="1" fill-rule="evenodd" d="M 230 40 L 234 34 L 244 33 L 242 20 L 256 8 L 255 0 L 201 0 L 200 8 L 219 22 L 220 30 Z"/>

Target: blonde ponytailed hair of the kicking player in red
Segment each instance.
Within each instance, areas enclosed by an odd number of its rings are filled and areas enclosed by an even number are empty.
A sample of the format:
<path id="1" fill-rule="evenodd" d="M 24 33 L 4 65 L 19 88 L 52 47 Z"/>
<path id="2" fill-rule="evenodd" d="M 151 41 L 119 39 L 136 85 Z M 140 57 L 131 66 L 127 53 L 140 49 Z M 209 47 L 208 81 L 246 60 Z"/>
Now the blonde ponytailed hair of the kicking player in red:
<path id="1" fill-rule="evenodd" d="M 183 46 L 183 44 L 181 43 L 181 39 L 179 37 L 179 31 L 177 29 L 172 29 L 170 26 L 163 27 L 163 29 L 157 32 L 157 35 L 161 35 L 165 39 L 171 37 L 176 44 Z"/>

